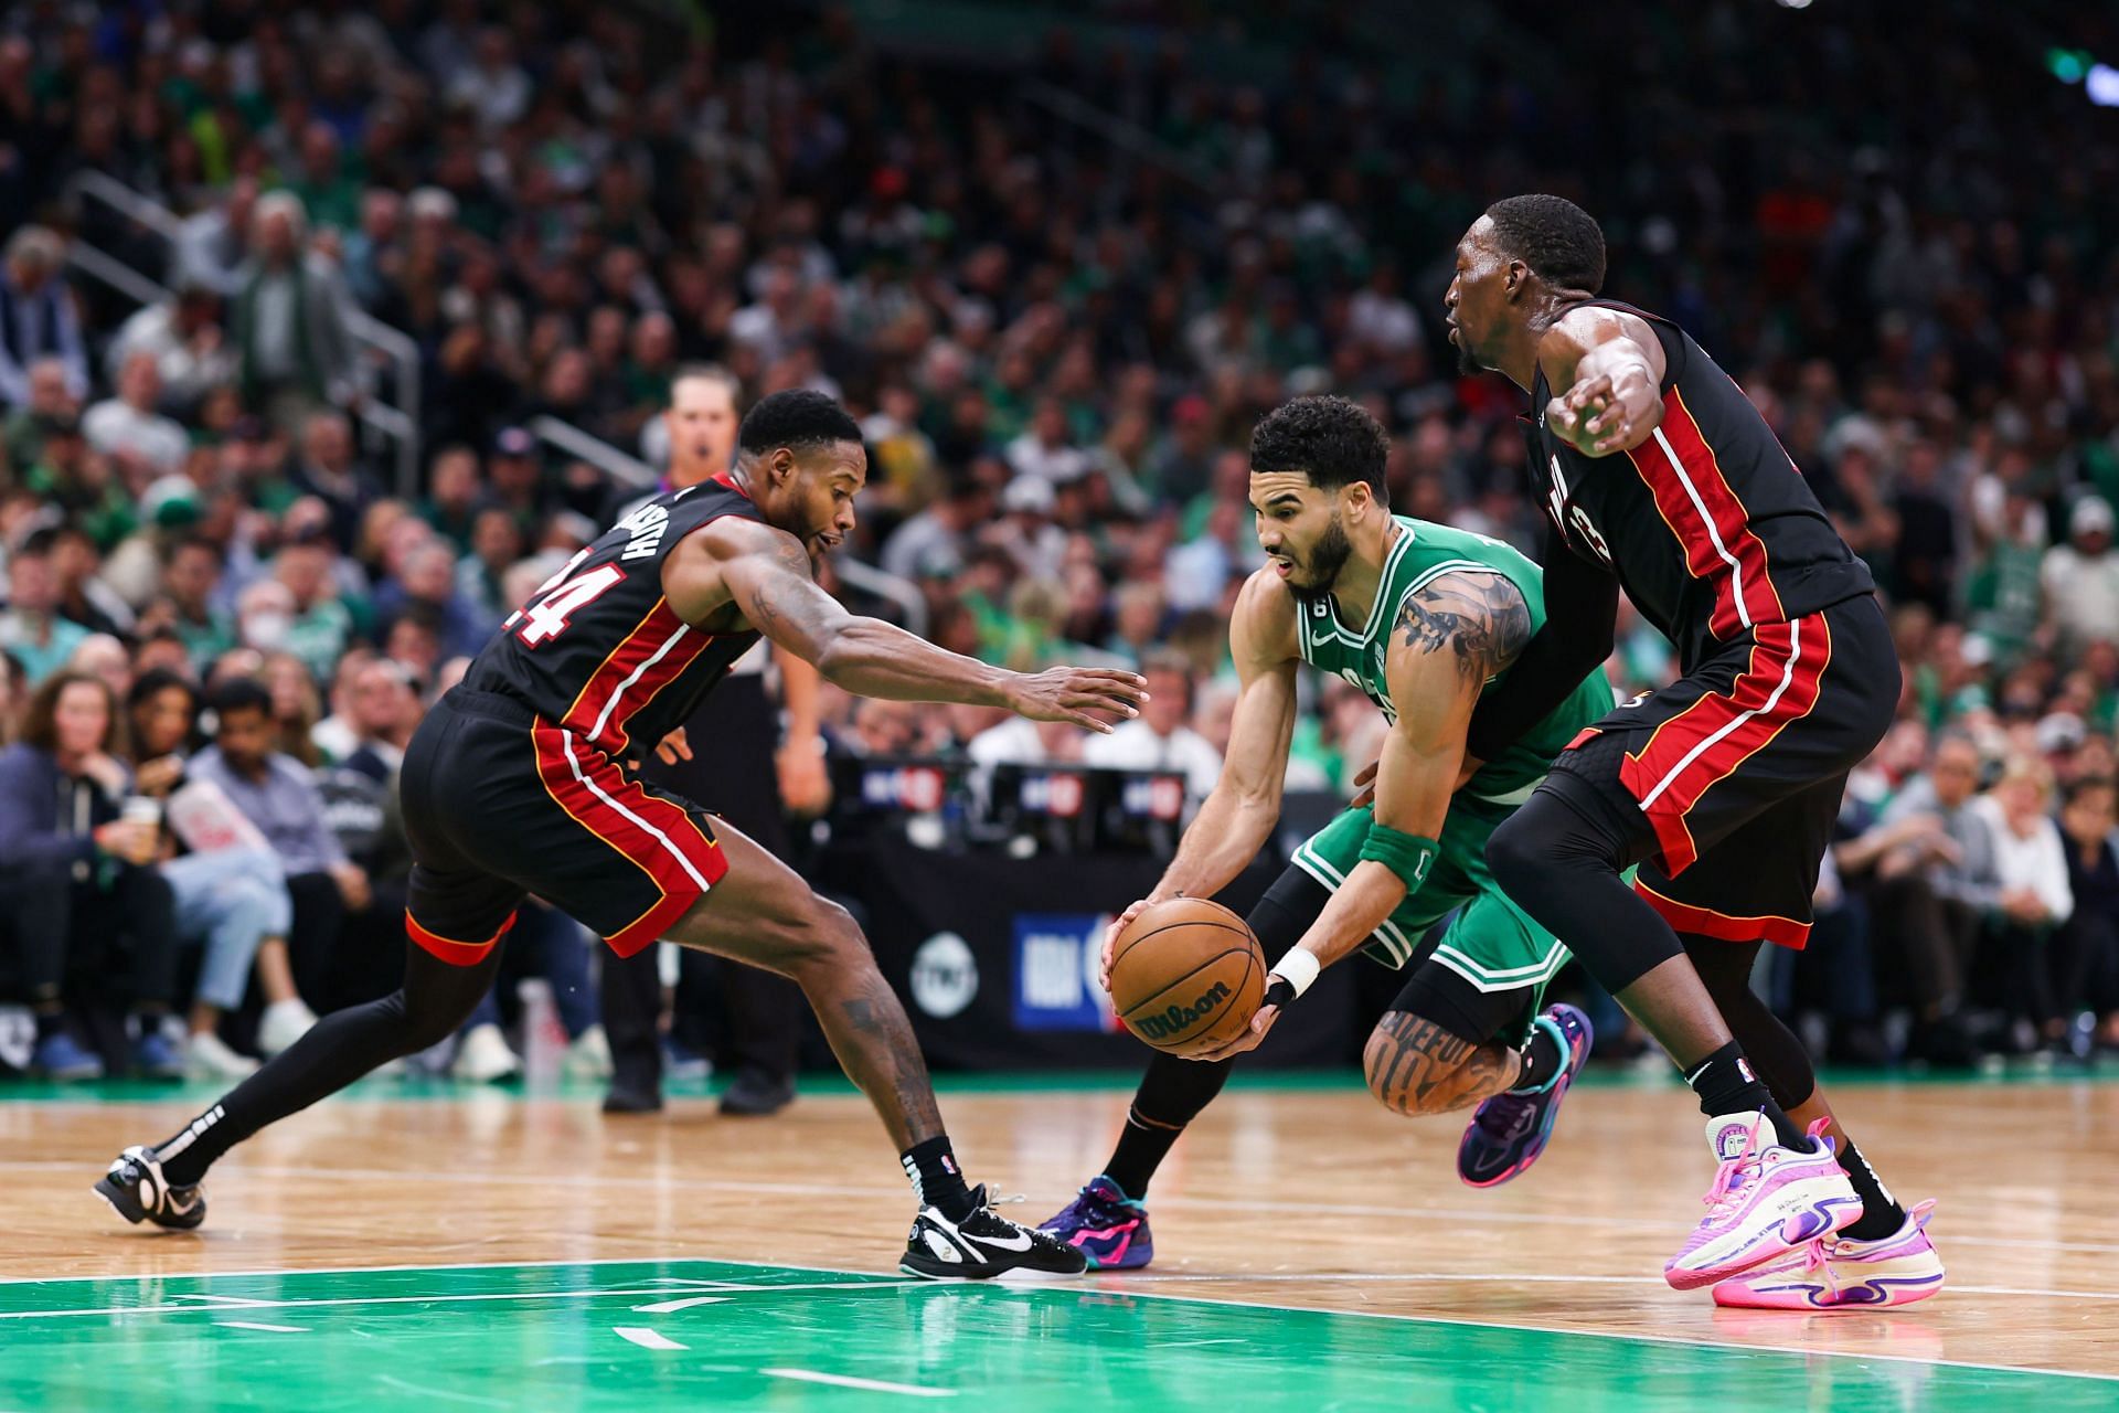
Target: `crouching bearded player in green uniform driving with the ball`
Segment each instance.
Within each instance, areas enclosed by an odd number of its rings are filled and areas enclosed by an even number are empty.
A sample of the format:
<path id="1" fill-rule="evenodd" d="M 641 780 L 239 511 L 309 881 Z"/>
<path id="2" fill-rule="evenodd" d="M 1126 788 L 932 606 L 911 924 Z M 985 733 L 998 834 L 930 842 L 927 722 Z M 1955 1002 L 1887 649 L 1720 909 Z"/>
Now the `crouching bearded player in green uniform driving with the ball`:
<path id="1" fill-rule="evenodd" d="M 1581 1010 L 1541 1010 L 1568 951 L 1494 883 L 1485 843 L 1553 752 L 1610 710 L 1610 686 L 1591 663 L 1541 720 L 1468 750 L 1481 703 L 1545 623 L 1538 566 L 1500 540 L 1392 515 L 1388 455 L 1390 436 L 1346 398 L 1295 398 L 1252 432 L 1250 508 L 1269 564 L 1229 623 L 1242 686 L 1227 761 L 1155 892 L 1110 926 L 1106 985 L 1112 941 L 1140 909 L 1221 892 L 1271 837 L 1303 663 L 1358 686 L 1390 731 L 1373 807 L 1365 792 L 1295 849 L 1246 917 L 1265 955 L 1280 958 L 1250 1027 L 1197 1059 L 1155 1055 L 1104 1171 L 1045 1222 L 1100 1269 L 1148 1265 L 1142 1199 L 1155 1169 L 1235 1055 L 1360 947 L 1411 968 L 1365 1047 L 1369 1089 L 1407 1116 L 1477 1106 L 1458 1144 L 1458 1176 L 1473 1186 L 1538 1159 L 1589 1057 Z M 1415 955 L 1443 917 L 1432 953 Z"/>

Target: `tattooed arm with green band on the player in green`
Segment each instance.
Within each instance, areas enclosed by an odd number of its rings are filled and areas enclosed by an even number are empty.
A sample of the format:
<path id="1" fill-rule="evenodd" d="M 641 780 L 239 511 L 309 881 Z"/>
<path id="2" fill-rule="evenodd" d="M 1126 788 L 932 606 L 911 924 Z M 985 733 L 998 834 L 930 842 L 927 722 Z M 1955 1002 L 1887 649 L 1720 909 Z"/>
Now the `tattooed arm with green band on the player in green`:
<path id="1" fill-rule="evenodd" d="M 1375 820 L 1437 839 L 1464 765 L 1464 729 L 1488 678 L 1515 661 L 1530 638 L 1530 608 L 1500 574 L 1441 574 L 1399 610 L 1384 657 L 1396 720 L 1375 769 Z M 1405 879 L 1375 860 L 1348 873 L 1297 947 L 1318 966 L 1350 955 L 1405 900 Z M 1274 1023 L 1263 1006 L 1250 1030 L 1199 1059 L 1225 1059 L 1259 1044 Z"/>

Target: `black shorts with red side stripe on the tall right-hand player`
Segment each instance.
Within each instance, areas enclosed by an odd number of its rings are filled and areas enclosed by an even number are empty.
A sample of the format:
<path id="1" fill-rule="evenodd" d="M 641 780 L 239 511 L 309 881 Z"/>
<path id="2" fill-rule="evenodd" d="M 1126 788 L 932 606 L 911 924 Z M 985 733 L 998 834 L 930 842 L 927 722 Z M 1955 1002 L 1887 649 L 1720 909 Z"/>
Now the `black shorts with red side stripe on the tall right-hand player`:
<path id="1" fill-rule="evenodd" d="M 1890 625 L 1863 595 L 1748 629 L 1583 731 L 1553 771 L 1646 818 L 1634 888 L 1672 928 L 1801 947 L 1848 771 L 1897 705 Z"/>

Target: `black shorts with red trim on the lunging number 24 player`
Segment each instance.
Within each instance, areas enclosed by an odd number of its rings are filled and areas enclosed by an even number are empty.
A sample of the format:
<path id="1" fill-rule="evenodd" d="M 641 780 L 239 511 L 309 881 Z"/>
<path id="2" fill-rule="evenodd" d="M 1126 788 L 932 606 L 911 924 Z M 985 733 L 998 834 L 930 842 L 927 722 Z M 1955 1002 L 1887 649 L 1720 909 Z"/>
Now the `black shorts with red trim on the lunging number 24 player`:
<path id="1" fill-rule="evenodd" d="M 697 805 L 627 777 L 578 733 L 456 688 L 405 748 L 411 938 L 473 966 L 526 894 L 629 958 L 729 871 Z"/>

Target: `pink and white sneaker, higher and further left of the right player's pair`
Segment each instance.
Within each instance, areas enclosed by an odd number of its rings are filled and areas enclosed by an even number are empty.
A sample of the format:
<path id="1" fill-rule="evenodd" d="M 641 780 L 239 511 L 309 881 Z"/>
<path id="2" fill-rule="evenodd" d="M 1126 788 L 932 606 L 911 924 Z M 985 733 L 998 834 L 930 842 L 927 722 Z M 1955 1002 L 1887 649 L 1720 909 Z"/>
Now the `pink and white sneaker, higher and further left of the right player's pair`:
<path id="1" fill-rule="evenodd" d="M 1824 1121 L 1810 1125 L 1810 1150 L 1778 1138 L 1765 1114 L 1708 1119 L 1708 1144 L 1721 1167 L 1708 1188 L 1708 1214 L 1691 1239 L 1663 1265 L 1676 1290 L 1725 1282 L 1767 1260 L 1797 1252 L 1860 1218 L 1860 1197 L 1833 1157 Z"/>

